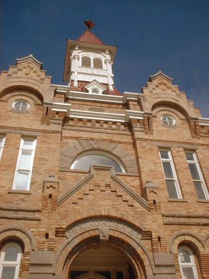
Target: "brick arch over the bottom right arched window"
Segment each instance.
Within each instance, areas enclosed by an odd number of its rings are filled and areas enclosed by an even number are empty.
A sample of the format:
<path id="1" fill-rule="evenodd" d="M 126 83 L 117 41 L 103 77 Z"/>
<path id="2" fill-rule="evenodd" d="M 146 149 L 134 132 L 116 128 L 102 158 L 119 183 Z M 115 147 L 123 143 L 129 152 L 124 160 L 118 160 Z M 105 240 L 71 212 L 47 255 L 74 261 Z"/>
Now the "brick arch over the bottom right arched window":
<path id="1" fill-rule="evenodd" d="M 205 252 L 205 246 L 203 245 L 202 240 L 200 240 L 200 238 L 198 238 L 198 236 L 194 233 L 175 233 L 170 239 L 170 253 L 178 254 L 178 246 L 180 243 L 190 243 L 191 247 L 197 249 L 199 253 Z"/>

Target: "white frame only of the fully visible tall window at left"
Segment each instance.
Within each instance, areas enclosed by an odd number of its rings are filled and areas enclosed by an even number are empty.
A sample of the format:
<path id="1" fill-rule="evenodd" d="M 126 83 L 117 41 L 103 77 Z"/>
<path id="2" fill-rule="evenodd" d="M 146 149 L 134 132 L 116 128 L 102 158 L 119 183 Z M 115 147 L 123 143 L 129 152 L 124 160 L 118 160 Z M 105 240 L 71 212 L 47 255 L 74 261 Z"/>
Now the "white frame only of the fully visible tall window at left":
<path id="1" fill-rule="evenodd" d="M 31 149 L 24 148 L 24 141 L 33 141 L 34 143 L 33 143 L 32 148 Z M 34 166 L 35 150 L 36 150 L 36 138 L 28 138 L 28 137 L 22 137 L 21 138 L 21 143 L 20 143 L 20 147 L 19 147 L 19 154 L 18 154 L 18 158 L 17 158 L 17 162 L 16 162 L 16 170 L 15 170 L 15 173 L 14 173 L 14 181 L 13 181 L 13 186 L 12 186 L 13 190 L 18 190 L 18 191 L 29 191 L 30 190 L 31 176 L 32 176 L 32 170 L 33 170 L 33 166 Z M 30 166 L 27 169 L 20 168 L 21 155 L 22 155 L 23 151 L 32 151 L 31 152 Z M 29 173 L 29 180 L 28 180 L 28 183 L 27 183 L 27 187 L 26 187 L 26 189 L 23 189 L 23 190 L 16 189 L 16 183 L 17 183 L 17 177 L 18 177 L 19 171 L 25 171 L 25 172 Z"/>

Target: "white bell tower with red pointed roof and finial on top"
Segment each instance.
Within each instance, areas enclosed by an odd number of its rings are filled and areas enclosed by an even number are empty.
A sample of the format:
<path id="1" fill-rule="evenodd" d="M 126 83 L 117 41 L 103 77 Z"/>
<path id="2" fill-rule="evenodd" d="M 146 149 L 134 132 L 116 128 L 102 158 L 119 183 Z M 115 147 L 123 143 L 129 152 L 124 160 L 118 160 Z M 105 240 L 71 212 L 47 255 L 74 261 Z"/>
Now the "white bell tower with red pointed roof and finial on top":
<path id="1" fill-rule="evenodd" d="M 67 41 L 63 80 L 75 91 L 118 95 L 113 76 L 117 47 L 103 44 L 92 33 L 91 20 L 85 24 L 87 30 L 77 41 Z"/>

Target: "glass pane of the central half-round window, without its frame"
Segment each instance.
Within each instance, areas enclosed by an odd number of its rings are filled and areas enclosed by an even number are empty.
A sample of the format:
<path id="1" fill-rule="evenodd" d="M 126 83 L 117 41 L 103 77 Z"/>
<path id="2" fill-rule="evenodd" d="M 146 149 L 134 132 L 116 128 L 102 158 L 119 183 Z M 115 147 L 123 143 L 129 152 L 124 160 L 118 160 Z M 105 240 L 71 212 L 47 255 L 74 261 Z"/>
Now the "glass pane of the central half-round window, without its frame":
<path id="1" fill-rule="evenodd" d="M 121 167 L 115 161 L 102 155 L 87 155 L 78 159 L 74 165 L 74 169 L 82 169 L 88 171 L 90 166 L 113 166 L 115 171 L 123 172 Z"/>

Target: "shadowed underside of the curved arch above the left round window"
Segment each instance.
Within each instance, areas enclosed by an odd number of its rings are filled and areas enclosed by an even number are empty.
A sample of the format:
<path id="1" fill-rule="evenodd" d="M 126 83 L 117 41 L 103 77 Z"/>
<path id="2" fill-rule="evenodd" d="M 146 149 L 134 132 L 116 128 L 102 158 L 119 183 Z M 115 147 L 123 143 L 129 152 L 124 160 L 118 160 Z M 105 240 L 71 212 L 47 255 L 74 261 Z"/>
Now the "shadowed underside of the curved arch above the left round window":
<path id="1" fill-rule="evenodd" d="M 33 86 L 25 86 L 23 84 L 16 84 L 15 86 L 9 86 L 4 88 L 1 92 L 0 92 L 0 99 L 4 96 L 6 96 L 9 93 L 12 93 L 14 91 L 29 91 L 30 93 L 34 94 L 34 96 L 36 96 L 37 98 L 39 98 L 39 101 L 41 101 L 41 103 L 44 103 L 44 96 L 42 95 L 42 93 L 39 91 L 38 88 L 35 88 Z"/>

